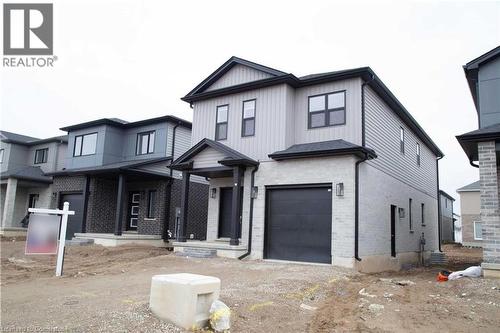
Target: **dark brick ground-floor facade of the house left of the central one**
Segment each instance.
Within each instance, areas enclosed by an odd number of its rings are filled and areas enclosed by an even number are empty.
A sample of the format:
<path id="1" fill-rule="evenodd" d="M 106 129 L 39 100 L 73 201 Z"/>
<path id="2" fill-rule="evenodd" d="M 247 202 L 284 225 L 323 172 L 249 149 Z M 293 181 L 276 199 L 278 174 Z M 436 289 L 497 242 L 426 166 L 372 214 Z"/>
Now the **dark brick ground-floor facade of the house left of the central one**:
<path id="1" fill-rule="evenodd" d="M 118 180 L 103 177 L 89 178 L 89 197 L 87 205 L 87 220 L 85 232 L 88 233 L 113 233 L 116 216 L 116 197 Z M 64 193 L 82 193 L 85 186 L 85 176 L 60 176 L 54 177 L 54 193 L 51 206 L 58 206 Z M 147 217 L 148 192 L 156 191 L 156 205 L 154 216 Z M 128 228 L 129 193 L 140 193 L 139 217 L 137 232 L 146 235 L 163 235 L 167 205 L 169 209 L 168 228 L 175 235 L 175 208 L 180 207 L 181 181 L 174 179 L 169 193 L 168 180 L 154 181 L 128 181 L 124 197 L 122 230 Z M 206 217 L 208 185 L 191 182 L 188 235 L 193 234 L 194 239 L 206 238 Z"/>

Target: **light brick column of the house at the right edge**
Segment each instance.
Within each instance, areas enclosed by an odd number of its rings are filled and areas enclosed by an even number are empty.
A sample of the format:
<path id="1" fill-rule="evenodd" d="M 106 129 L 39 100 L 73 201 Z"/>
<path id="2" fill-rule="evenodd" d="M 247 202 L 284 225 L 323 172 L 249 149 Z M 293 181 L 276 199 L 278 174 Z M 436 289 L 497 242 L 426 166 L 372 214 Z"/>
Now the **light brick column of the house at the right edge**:
<path id="1" fill-rule="evenodd" d="M 478 143 L 484 276 L 500 277 L 500 207 L 494 141 Z"/>

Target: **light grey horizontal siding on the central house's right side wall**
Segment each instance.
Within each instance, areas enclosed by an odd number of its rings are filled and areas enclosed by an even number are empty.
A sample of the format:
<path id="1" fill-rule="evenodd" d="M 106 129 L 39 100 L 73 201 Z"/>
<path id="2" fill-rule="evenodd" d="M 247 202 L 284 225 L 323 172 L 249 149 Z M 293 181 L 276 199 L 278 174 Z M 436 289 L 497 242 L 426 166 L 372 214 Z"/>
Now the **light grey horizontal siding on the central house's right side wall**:
<path id="1" fill-rule="evenodd" d="M 366 88 L 366 146 L 378 157 L 368 161 L 375 168 L 433 198 L 437 196 L 436 156 L 369 87 Z M 400 152 L 399 131 L 405 130 L 405 153 Z M 421 163 L 416 162 L 420 144 Z"/>

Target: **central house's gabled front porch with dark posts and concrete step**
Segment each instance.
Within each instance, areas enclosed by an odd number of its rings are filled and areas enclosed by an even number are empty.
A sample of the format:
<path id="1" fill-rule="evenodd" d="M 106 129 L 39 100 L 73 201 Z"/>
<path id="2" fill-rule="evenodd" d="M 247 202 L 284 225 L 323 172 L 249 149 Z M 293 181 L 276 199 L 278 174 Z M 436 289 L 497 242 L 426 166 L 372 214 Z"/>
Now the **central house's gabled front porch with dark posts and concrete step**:
<path id="1" fill-rule="evenodd" d="M 200 141 L 172 164 L 174 170 L 182 172 L 174 251 L 230 258 L 247 252 L 250 230 L 243 223 L 242 208 L 252 201 L 253 194 L 252 182 L 245 174 L 248 176 L 258 165 L 257 161 L 209 139 Z M 204 177 L 210 183 L 206 241 L 189 240 L 186 233 L 190 221 L 189 182 L 192 176 Z M 246 212 L 249 211 L 251 209 L 247 208 Z"/>

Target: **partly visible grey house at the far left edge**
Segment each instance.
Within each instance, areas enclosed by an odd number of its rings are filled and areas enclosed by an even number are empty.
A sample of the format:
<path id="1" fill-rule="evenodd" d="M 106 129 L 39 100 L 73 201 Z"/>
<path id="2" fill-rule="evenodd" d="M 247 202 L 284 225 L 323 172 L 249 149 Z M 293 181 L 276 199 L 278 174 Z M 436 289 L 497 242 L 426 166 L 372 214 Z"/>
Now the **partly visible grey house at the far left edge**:
<path id="1" fill-rule="evenodd" d="M 0 131 L 2 228 L 22 227 L 28 208 L 48 207 L 52 178 L 47 173 L 62 169 L 67 140 Z"/>

